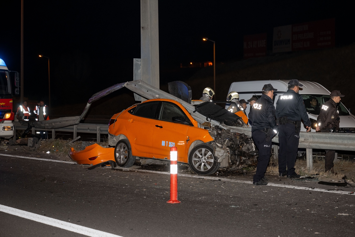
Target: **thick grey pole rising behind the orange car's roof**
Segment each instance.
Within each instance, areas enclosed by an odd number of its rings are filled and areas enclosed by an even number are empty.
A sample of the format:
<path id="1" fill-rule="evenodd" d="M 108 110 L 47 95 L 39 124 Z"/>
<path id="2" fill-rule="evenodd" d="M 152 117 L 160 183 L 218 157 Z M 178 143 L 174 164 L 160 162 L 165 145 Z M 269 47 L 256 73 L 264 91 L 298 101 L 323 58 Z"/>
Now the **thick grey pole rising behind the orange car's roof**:
<path id="1" fill-rule="evenodd" d="M 141 77 L 159 89 L 158 0 L 141 0 Z"/>

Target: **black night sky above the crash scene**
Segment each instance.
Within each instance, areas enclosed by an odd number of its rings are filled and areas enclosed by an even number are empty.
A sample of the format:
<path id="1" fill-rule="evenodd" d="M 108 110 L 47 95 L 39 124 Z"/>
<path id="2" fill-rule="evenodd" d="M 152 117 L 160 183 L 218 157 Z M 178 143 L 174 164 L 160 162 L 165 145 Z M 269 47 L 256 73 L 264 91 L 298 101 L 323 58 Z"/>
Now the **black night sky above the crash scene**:
<path id="1" fill-rule="evenodd" d="M 336 47 L 354 42 L 349 2 L 159 1 L 160 83 L 176 80 L 180 63 L 241 60 L 243 36 L 273 27 L 335 18 Z M 0 3 L 0 58 L 20 72 L 21 1 Z M 95 92 L 133 80 L 140 58 L 140 1 L 24 0 L 24 96 L 48 98 L 50 58 L 52 105 L 85 102 Z M 163 73 L 164 72 L 164 73 Z M 227 92 L 226 92 L 227 93 Z"/>

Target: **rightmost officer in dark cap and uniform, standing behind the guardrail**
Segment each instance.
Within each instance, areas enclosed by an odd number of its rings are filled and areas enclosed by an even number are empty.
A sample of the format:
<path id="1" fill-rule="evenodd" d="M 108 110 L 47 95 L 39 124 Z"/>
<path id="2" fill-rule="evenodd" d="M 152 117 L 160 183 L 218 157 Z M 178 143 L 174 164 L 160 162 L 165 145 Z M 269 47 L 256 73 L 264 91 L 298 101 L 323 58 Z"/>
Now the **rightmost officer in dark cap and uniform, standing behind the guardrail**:
<path id="1" fill-rule="evenodd" d="M 344 97 L 344 95 L 340 94 L 340 91 L 335 90 L 332 91 L 330 96 L 331 98 L 329 99 L 329 101 L 322 105 L 321 113 L 318 115 L 317 118 L 316 131 L 321 131 L 322 133 L 336 133 L 339 130 L 340 118 L 338 112 L 338 105 L 341 100 L 340 97 Z M 335 151 L 326 150 L 326 172 L 330 171 L 334 173 L 334 156 Z"/>

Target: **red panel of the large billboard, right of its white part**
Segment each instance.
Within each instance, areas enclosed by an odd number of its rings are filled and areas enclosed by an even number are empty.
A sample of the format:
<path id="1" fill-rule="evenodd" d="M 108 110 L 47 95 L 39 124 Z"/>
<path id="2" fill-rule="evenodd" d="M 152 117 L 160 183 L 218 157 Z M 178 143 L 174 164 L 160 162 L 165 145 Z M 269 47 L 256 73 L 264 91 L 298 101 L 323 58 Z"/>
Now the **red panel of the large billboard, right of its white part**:
<path id="1" fill-rule="evenodd" d="M 292 51 L 335 47 L 335 19 L 292 25 Z"/>

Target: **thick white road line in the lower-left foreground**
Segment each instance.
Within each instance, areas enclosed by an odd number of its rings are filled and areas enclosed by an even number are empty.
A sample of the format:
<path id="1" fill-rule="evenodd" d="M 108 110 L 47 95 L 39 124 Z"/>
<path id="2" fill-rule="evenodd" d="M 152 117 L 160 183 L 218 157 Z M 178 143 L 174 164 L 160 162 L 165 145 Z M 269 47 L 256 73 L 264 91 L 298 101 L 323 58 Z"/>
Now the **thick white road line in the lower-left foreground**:
<path id="1" fill-rule="evenodd" d="M 118 236 L 118 237 L 121 237 L 119 235 L 114 235 L 114 234 L 107 233 L 104 231 L 94 230 L 92 228 L 76 225 L 76 224 L 73 224 L 70 222 L 60 221 L 60 220 L 57 220 L 57 219 L 54 219 L 51 217 L 41 216 L 41 215 L 38 215 L 38 214 L 35 214 L 32 212 L 23 211 L 23 210 L 16 209 L 16 208 L 10 208 L 9 206 L 0 205 L 0 211 L 5 212 L 7 214 L 26 218 L 28 220 L 37 221 L 39 223 L 43 223 L 46 225 L 58 227 L 58 228 L 68 230 L 71 232 L 86 235 L 86 236 L 93 236 L 93 237 L 94 236 L 102 236 L 102 237 L 104 237 L 104 236 Z"/>

